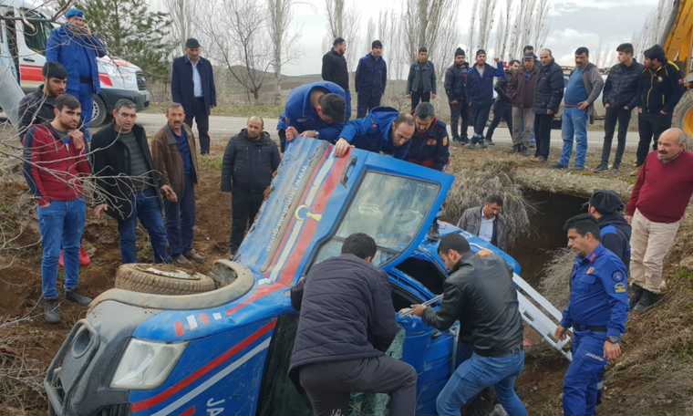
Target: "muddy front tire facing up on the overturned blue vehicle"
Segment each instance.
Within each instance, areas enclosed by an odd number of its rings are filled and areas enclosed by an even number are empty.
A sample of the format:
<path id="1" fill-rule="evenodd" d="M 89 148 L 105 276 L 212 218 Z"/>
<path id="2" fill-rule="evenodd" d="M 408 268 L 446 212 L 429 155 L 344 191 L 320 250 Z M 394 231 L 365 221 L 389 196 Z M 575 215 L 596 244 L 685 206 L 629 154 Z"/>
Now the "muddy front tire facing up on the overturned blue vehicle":
<path id="1" fill-rule="evenodd" d="M 116 288 L 153 295 L 191 295 L 214 290 L 214 280 L 193 275 L 171 265 L 121 265 L 116 272 Z"/>

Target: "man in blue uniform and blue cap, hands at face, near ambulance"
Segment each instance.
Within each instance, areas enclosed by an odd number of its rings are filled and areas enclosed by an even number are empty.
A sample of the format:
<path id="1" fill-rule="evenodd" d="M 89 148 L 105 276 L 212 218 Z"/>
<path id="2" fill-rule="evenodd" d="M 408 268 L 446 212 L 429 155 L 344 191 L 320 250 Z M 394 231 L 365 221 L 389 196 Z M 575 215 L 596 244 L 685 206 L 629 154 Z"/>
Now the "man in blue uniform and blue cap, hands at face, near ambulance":
<path id="1" fill-rule="evenodd" d="M 67 10 L 65 17 L 67 25 L 56 27 L 48 35 L 46 61 L 56 61 L 67 70 L 65 92 L 79 100 L 81 123 L 89 141 L 91 133 L 88 127 L 94 108 L 94 94 L 101 92 L 97 57 L 106 56 L 106 47 L 97 36 L 91 34 L 83 11 L 72 8 Z"/>

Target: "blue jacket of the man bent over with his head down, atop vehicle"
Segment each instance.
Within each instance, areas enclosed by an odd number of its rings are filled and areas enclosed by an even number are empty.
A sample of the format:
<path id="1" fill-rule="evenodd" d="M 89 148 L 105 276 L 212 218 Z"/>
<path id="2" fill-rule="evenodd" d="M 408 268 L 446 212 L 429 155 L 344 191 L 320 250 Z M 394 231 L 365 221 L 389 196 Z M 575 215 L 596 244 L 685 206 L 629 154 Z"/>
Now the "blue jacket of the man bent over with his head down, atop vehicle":
<path id="1" fill-rule="evenodd" d="M 310 105 L 310 95 L 315 89 L 321 89 L 326 94 L 334 93 L 347 99 L 344 89 L 329 81 L 308 82 L 300 87 L 292 89 L 286 99 L 284 112 L 279 116 L 276 125 L 277 130 L 286 130 L 289 127 L 303 133 L 306 130 L 315 130 L 320 133 L 320 140 L 334 143 L 339 138 L 339 132 L 344 129 L 344 123 L 328 123 L 318 117 L 317 111 Z M 347 113 L 345 109 L 345 114 Z"/>

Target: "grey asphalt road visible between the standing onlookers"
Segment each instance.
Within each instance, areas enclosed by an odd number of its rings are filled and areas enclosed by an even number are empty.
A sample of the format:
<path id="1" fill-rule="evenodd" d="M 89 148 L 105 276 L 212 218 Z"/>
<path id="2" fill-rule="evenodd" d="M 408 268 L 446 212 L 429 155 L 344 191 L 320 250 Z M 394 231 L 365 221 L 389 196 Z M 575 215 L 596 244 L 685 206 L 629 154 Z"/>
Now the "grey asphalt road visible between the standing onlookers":
<path id="1" fill-rule="evenodd" d="M 149 134 L 153 134 L 154 131 L 158 130 L 166 123 L 166 117 L 164 117 L 162 114 L 142 113 L 138 114 L 137 121 L 144 126 L 145 130 Z M 245 121 L 246 119 L 243 117 L 212 116 L 210 117 L 210 136 L 212 137 L 212 140 L 228 140 L 245 127 Z M 267 130 L 273 137 L 276 136 L 276 122 L 277 120 L 274 118 L 271 120 L 264 120 L 264 130 Z M 193 131 L 195 134 L 197 134 L 196 128 L 193 128 Z M 471 129 L 469 132 L 470 134 L 473 133 Z M 562 141 L 558 140 L 560 135 L 560 130 L 552 131 L 552 147 L 561 147 L 563 145 Z M 510 144 L 512 139 L 508 128 L 502 126 L 496 129 L 496 131 L 493 133 L 493 141 Z M 628 135 L 626 137 L 626 147 L 637 147 L 637 141 L 637 132 L 628 131 Z M 587 131 L 587 142 L 588 146 L 592 149 L 601 147 L 604 142 L 604 131 Z M 616 138 L 614 138 L 614 142 L 612 144 L 614 151 L 615 146 Z"/>

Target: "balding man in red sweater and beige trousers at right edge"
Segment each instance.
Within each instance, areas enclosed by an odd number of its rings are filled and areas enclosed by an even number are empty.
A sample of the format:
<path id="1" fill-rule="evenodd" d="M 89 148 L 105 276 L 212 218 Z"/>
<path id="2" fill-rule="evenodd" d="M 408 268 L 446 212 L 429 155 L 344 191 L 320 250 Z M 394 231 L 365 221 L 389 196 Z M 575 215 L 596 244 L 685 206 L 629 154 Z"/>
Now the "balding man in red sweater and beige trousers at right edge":
<path id="1" fill-rule="evenodd" d="M 684 149 L 685 141 L 679 129 L 659 136 L 626 205 L 626 221 L 633 225 L 628 304 L 636 313 L 657 303 L 662 262 L 693 194 L 693 153 Z"/>

